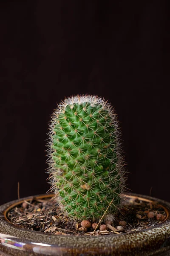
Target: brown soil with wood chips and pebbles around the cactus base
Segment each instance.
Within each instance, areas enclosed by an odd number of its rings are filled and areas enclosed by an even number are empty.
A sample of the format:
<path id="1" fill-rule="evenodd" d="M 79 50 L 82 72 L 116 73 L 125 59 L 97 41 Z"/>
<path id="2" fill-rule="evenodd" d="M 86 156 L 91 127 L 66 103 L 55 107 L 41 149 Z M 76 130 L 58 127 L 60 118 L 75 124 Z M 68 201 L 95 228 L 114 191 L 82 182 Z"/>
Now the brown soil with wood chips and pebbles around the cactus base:
<path id="1" fill-rule="evenodd" d="M 81 226 L 81 222 L 69 220 L 56 202 L 49 198 L 32 198 L 31 201 L 24 201 L 11 208 L 7 213 L 8 220 L 18 227 L 69 236 L 119 235 L 144 230 L 164 221 L 166 213 L 157 202 L 126 199 L 122 202 L 122 209 L 114 217 L 113 221 L 102 219 L 95 230 L 95 225 L 85 228 Z M 92 220 L 88 221 L 93 224 Z"/>

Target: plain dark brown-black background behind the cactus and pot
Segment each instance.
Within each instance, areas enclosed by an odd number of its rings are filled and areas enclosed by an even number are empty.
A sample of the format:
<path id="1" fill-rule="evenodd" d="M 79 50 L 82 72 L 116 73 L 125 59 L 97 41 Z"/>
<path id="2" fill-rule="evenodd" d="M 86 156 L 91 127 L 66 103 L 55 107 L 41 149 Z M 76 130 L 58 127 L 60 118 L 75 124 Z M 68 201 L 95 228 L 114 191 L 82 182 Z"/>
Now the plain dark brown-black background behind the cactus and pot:
<path id="1" fill-rule="evenodd" d="M 119 116 L 132 192 L 170 201 L 169 1 L 3 1 L 0 203 L 45 193 L 48 122 L 65 96 Z"/>

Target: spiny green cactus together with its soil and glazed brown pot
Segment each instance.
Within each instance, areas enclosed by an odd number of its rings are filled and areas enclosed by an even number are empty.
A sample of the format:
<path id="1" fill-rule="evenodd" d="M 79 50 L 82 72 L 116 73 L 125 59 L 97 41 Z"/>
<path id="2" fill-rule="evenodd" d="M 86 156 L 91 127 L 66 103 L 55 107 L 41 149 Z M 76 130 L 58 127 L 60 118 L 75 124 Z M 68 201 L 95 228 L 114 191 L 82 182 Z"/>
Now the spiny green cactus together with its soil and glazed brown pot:
<path id="1" fill-rule="evenodd" d="M 0 207 L 0 255 L 170 255 L 170 204 L 125 194 L 125 162 L 111 105 L 97 96 L 67 98 L 54 111 L 49 130 L 48 173 L 54 196 L 23 198 Z M 45 199 L 50 197 L 55 207 L 48 207 L 47 215 L 52 215 L 53 222 L 43 219 Z M 10 217 L 14 212 L 20 215 L 17 220 Z M 39 231 L 33 228 L 33 217 L 40 217 Z M 138 228 L 131 226 L 134 218 Z M 67 227 L 71 223 L 71 234 L 62 228 L 65 223 Z"/>

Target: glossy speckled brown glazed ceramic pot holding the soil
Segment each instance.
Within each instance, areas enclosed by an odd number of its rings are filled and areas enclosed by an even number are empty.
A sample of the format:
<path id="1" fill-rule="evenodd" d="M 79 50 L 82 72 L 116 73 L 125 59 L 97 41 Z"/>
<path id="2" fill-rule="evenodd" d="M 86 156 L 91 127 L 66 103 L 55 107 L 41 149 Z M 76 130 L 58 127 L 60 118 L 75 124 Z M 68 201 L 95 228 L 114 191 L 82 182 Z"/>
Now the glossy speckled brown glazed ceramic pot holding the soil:
<path id="1" fill-rule="evenodd" d="M 131 195 L 131 196 L 130 196 Z M 144 195 L 127 197 L 158 201 L 166 210 L 164 222 L 142 231 L 107 236 L 62 236 L 25 230 L 5 217 L 8 208 L 31 197 L 0 207 L 1 256 L 170 256 L 170 203 Z M 50 195 L 48 195 L 50 196 Z M 34 196 L 38 198 L 47 195 Z"/>

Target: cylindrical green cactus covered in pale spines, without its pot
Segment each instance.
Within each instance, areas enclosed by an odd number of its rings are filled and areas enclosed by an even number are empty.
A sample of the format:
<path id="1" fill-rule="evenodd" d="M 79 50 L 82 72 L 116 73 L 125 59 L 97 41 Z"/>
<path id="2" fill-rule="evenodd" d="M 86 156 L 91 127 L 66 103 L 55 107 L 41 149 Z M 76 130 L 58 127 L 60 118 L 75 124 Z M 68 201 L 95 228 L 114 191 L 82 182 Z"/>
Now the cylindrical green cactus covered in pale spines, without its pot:
<path id="1" fill-rule="evenodd" d="M 63 212 L 79 220 L 114 214 L 124 189 L 120 131 L 111 105 L 73 96 L 58 105 L 49 127 L 51 191 Z"/>

